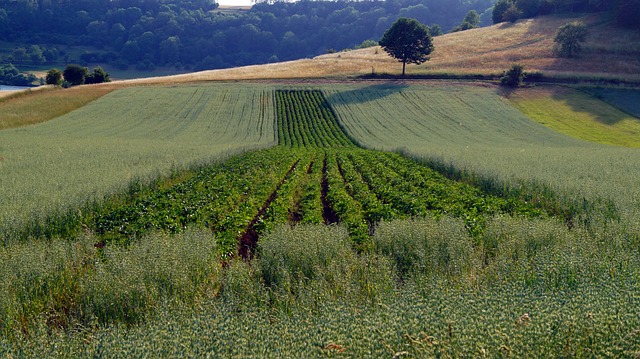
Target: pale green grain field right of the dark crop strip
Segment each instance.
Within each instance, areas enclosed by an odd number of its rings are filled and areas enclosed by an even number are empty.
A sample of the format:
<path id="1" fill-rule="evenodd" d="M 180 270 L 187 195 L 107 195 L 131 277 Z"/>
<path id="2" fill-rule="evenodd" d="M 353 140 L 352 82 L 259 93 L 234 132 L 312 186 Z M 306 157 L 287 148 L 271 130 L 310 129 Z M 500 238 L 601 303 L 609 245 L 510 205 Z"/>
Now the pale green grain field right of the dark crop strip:
<path id="1" fill-rule="evenodd" d="M 611 199 L 630 215 L 640 208 L 640 151 L 562 135 L 529 120 L 495 89 L 431 85 L 325 91 L 344 128 L 366 147 L 402 150 L 513 186 L 543 184 L 578 201 Z"/>

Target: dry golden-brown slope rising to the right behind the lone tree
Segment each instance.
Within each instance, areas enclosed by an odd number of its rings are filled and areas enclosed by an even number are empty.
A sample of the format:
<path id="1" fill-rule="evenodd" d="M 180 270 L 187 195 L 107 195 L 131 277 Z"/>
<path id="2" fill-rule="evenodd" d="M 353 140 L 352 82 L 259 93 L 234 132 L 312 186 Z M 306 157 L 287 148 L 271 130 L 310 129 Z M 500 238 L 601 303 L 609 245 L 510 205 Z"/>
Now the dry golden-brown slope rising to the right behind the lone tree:
<path id="1" fill-rule="evenodd" d="M 590 36 L 577 59 L 557 58 L 553 37 L 569 21 L 588 24 Z M 640 80 L 640 41 L 637 33 L 613 26 L 600 15 L 582 17 L 545 16 L 501 23 L 489 27 L 446 34 L 434 38 L 431 60 L 409 66 L 413 74 L 500 74 L 513 63 L 527 71 L 550 76 L 605 77 Z M 151 84 L 212 80 L 291 79 L 399 74 L 401 66 L 380 47 L 232 69 L 202 71 L 168 77 L 124 81 L 123 84 Z"/>

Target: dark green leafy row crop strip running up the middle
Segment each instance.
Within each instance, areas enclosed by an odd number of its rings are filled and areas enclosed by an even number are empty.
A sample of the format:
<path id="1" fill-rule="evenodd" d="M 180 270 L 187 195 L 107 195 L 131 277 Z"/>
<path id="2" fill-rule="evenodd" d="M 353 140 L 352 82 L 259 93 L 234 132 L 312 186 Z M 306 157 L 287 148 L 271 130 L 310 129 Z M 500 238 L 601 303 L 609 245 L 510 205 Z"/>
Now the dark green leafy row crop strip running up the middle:
<path id="1" fill-rule="evenodd" d="M 171 186 L 113 198 L 82 219 L 101 241 L 209 228 L 225 256 L 250 255 L 283 223 L 341 223 L 364 245 L 380 221 L 453 215 L 478 235 L 487 216 L 539 216 L 532 204 L 489 195 L 401 155 L 363 150 L 341 130 L 321 91 L 276 91 L 279 146 L 236 156 Z"/>

